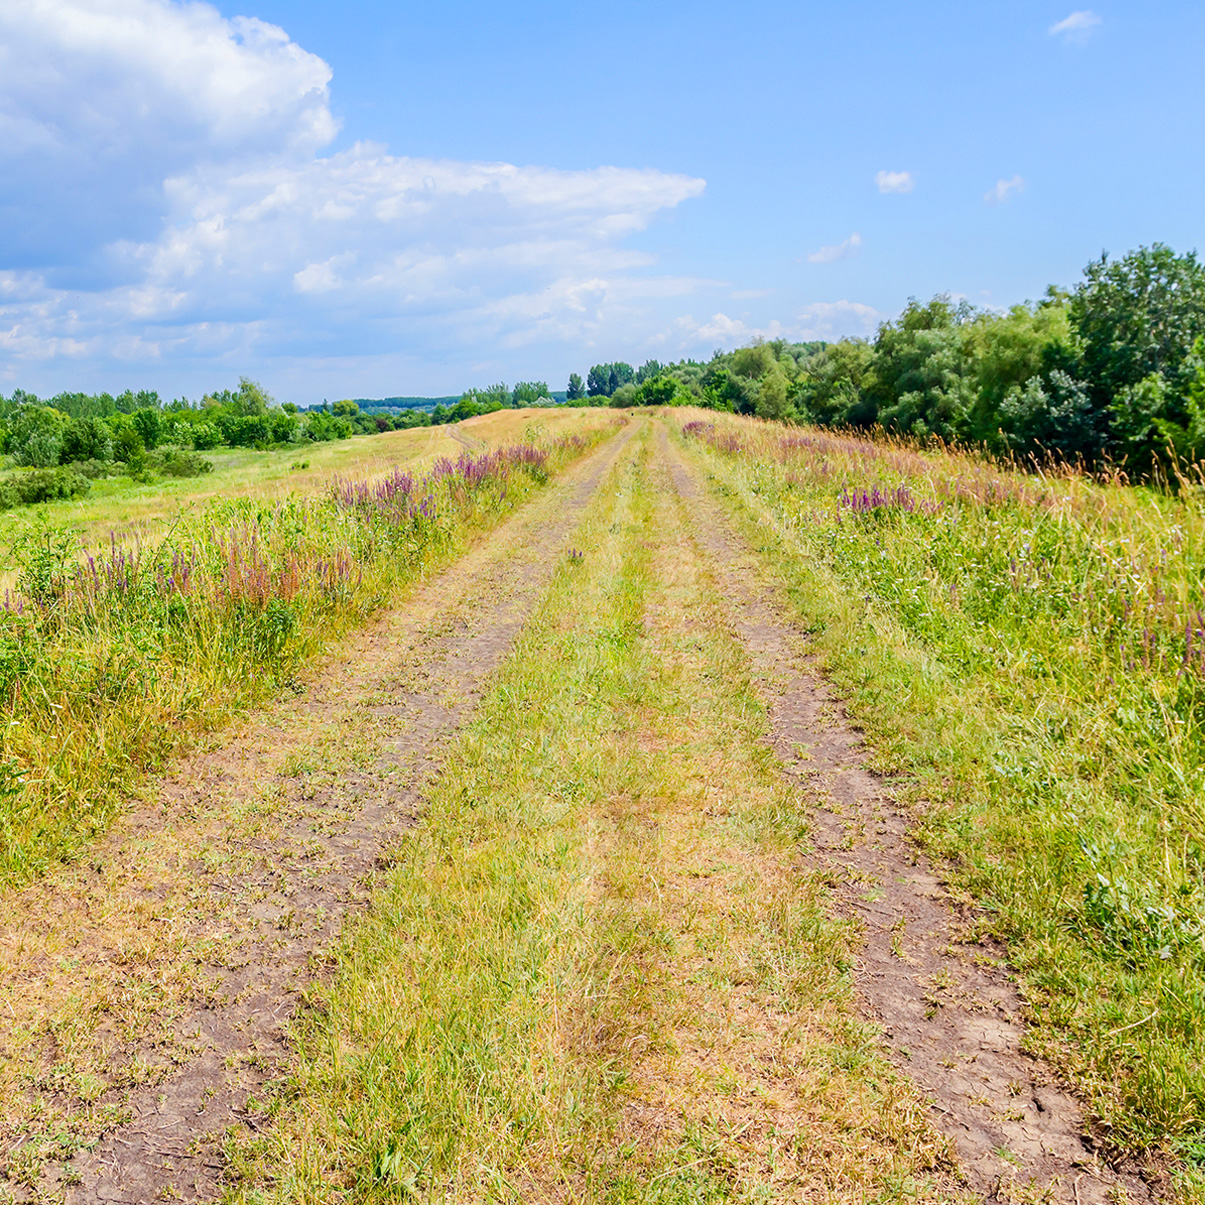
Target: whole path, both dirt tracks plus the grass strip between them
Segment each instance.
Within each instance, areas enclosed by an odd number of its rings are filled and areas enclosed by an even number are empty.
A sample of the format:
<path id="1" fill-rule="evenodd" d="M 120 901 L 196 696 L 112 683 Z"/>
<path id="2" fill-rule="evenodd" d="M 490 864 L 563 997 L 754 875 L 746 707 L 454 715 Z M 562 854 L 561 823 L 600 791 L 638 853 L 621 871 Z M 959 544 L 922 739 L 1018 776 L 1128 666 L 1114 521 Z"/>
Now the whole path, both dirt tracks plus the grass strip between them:
<path id="1" fill-rule="evenodd" d="M 986 952 L 757 552 L 634 430 L 8 912 L 18 1198 L 1148 1199 L 999 969 L 957 978 Z"/>

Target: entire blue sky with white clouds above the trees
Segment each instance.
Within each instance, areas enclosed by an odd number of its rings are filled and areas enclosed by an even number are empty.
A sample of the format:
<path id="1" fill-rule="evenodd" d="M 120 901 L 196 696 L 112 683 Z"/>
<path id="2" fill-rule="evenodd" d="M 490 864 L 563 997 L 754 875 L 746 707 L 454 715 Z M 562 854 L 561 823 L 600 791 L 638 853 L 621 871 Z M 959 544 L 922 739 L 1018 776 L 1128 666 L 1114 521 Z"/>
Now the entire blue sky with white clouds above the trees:
<path id="1" fill-rule="evenodd" d="M 1180 0 L 2 0 L 0 393 L 563 389 L 1035 299 L 1205 243 L 1203 51 Z"/>

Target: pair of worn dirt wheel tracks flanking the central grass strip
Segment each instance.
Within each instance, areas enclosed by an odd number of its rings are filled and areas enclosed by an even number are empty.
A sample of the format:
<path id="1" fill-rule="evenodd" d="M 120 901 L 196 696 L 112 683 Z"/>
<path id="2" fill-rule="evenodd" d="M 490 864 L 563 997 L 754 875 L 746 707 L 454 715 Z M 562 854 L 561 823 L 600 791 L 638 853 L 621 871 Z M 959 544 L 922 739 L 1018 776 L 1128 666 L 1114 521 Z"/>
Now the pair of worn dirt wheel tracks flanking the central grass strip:
<path id="1" fill-rule="evenodd" d="M 11 1030 L 0 1048 L 20 1063 L 25 1044 L 23 1065 L 37 1069 L 6 1086 L 19 1107 L 0 1151 L 18 1199 L 221 1193 L 227 1128 L 265 1124 L 255 1098 L 287 1066 L 287 1022 L 324 950 L 370 899 L 375 869 L 631 430 L 349 640 L 296 698 L 180 763 L 86 864 L 5 901 L 0 1016 Z M 830 872 L 834 912 L 862 923 L 865 1011 L 931 1099 L 970 1187 L 999 1201 L 1153 1199 L 1101 1163 L 1074 1099 L 1022 1053 L 1023 1005 L 999 952 L 965 940 L 956 901 L 909 844 L 907 816 L 866 768 L 781 588 L 699 462 L 664 429 L 654 458 L 764 690 L 774 752 L 815 801 L 811 866 Z M 669 629 L 676 617 L 662 606 Z M 725 1057 L 746 1053 L 734 1045 Z M 766 1084 L 788 1093 L 776 1074 Z M 47 1162 L 22 1185 L 23 1150 L 55 1128 L 80 1147 L 66 1175 Z"/>

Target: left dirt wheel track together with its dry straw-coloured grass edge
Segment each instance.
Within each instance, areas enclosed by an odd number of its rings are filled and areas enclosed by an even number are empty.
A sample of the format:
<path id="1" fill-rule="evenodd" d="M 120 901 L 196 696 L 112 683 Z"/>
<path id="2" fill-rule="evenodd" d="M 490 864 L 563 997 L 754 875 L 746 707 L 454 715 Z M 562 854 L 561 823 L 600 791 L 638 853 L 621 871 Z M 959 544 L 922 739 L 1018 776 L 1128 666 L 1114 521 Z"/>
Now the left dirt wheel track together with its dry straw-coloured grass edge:
<path id="1" fill-rule="evenodd" d="M 294 698 L 178 763 L 86 863 L 0 904 L 0 1198 L 219 1193 L 227 1130 L 265 1123 L 255 1098 L 288 1059 L 324 948 L 368 903 L 627 439 L 419 583 Z"/>

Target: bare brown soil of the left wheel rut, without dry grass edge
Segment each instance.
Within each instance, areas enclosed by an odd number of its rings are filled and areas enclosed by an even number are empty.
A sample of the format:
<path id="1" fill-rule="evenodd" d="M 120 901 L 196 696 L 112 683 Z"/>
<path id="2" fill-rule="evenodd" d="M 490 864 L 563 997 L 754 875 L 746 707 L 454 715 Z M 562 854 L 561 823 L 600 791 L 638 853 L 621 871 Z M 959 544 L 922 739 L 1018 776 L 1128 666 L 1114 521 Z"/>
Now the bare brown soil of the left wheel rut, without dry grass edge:
<path id="1" fill-rule="evenodd" d="M 196 848 L 189 869 L 193 889 L 211 905 L 205 918 L 212 924 L 214 900 L 219 915 L 224 904 L 225 915 L 241 911 L 240 937 L 219 947 L 199 976 L 202 991 L 174 1021 L 124 1048 L 125 1066 L 152 1069 L 148 1082 L 122 1093 L 129 1119 L 61 1172 L 43 1174 L 39 1192 L 66 1189 L 74 1205 L 204 1200 L 221 1192 L 227 1131 L 266 1124 L 255 1098 L 287 1069 L 288 1022 L 322 974 L 323 951 L 348 913 L 369 903 L 372 872 L 388 864 L 390 846 L 415 823 L 424 784 L 439 772 L 448 741 L 537 604 L 631 431 L 629 425 L 570 466 L 541 498 L 418 586 L 340 668 L 342 693 L 311 692 L 298 703 L 302 728 L 310 712 L 316 723 L 334 719 L 336 731 L 366 731 L 374 758 L 312 790 L 304 776 L 269 769 L 278 759 L 269 729 L 254 742 L 236 739 L 233 748 L 195 759 L 199 782 L 174 775 L 165 783 L 174 813 L 188 816 L 214 795 L 229 813 L 254 803 L 246 797 L 266 775 L 277 788 L 275 828 L 237 842 L 239 860 L 229 870 L 211 869 L 212 848 Z M 128 829 L 146 834 L 161 824 L 161 815 L 148 812 L 133 817 Z M 217 827 L 206 837 L 223 841 Z M 229 829 L 224 840 L 231 841 Z M 113 841 L 120 846 L 120 837 Z"/>

